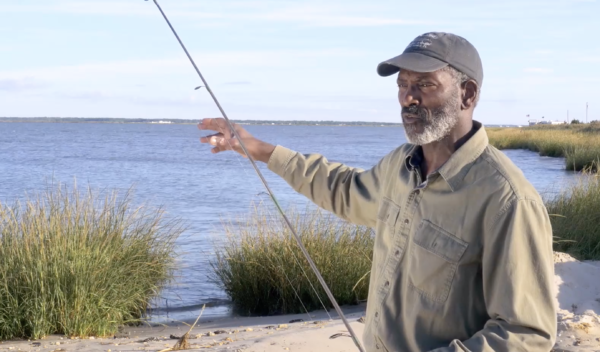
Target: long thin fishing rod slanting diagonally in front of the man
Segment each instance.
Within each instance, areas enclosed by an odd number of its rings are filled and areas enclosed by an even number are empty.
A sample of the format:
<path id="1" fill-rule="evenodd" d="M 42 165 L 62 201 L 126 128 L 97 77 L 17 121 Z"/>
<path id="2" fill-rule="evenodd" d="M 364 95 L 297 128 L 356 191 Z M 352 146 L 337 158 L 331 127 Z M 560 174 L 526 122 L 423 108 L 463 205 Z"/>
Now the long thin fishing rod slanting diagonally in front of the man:
<path id="1" fill-rule="evenodd" d="M 148 1 L 148 0 L 145 0 L 145 1 Z M 333 304 L 336 312 L 338 313 L 338 315 L 340 316 L 340 318 L 344 322 L 344 325 L 346 325 L 346 328 L 348 329 L 348 332 L 350 333 L 350 335 L 352 337 L 352 340 L 354 341 L 354 344 L 356 345 L 356 347 L 358 348 L 358 350 L 360 352 L 365 352 L 365 350 L 363 349 L 360 341 L 358 340 L 358 337 L 354 333 L 354 330 L 352 330 L 352 327 L 350 326 L 350 324 L 348 323 L 348 320 L 344 316 L 344 313 L 342 312 L 342 309 L 340 308 L 340 306 L 338 305 L 337 301 L 333 297 L 333 294 L 331 293 L 331 290 L 327 286 L 327 283 L 325 283 L 325 280 L 321 276 L 321 272 L 319 271 L 319 269 L 315 265 L 314 261 L 310 257 L 310 254 L 308 254 L 308 251 L 306 250 L 306 247 L 304 247 L 304 244 L 302 244 L 302 240 L 300 239 L 300 236 L 298 236 L 298 233 L 296 232 L 296 230 L 292 226 L 292 223 L 290 222 L 290 220 L 288 219 L 288 217 L 285 215 L 283 209 L 279 205 L 279 202 L 275 198 L 275 194 L 271 191 L 271 188 L 269 187 L 269 185 L 267 183 L 267 180 L 264 178 L 264 176 L 262 175 L 262 173 L 258 169 L 258 166 L 256 166 L 256 162 L 250 156 L 250 153 L 248 153 L 248 149 L 246 149 L 246 145 L 244 144 L 244 141 L 240 138 L 237 130 L 234 128 L 233 124 L 231 123 L 231 121 L 227 117 L 227 114 L 225 113 L 225 110 L 223 110 L 223 108 L 221 107 L 221 104 L 217 100 L 217 97 L 215 96 L 215 94 L 213 93 L 213 91 L 210 89 L 210 86 L 208 85 L 208 82 L 206 82 L 206 80 L 204 79 L 204 76 L 202 75 L 202 73 L 200 73 L 200 70 L 198 69 L 198 66 L 196 66 L 196 63 L 194 62 L 194 59 L 192 59 L 192 56 L 187 51 L 185 45 L 183 44 L 183 42 L 179 38 L 179 35 L 175 31 L 175 28 L 173 28 L 173 26 L 171 25 L 171 22 L 167 18 L 167 15 L 165 15 L 164 11 L 162 10 L 162 8 L 160 7 L 160 5 L 158 4 L 158 2 L 156 0 L 152 0 L 152 1 L 154 2 L 154 4 L 156 5 L 156 7 L 158 8 L 158 10 L 160 11 L 160 13 L 162 14 L 163 18 L 165 19 L 165 21 L 169 25 L 169 28 L 171 28 L 171 31 L 173 32 L 173 34 L 175 35 L 175 38 L 177 38 L 177 41 L 179 42 L 179 45 L 181 45 L 181 48 L 183 49 L 183 51 L 185 51 L 185 54 L 187 55 L 188 59 L 190 60 L 190 62 L 194 66 L 194 69 L 196 70 L 196 73 L 198 73 L 198 76 L 202 80 L 202 83 L 204 84 L 203 87 L 206 88 L 206 90 L 208 91 L 208 93 L 212 97 L 213 101 L 215 102 L 215 104 L 219 108 L 219 111 L 223 115 L 223 118 L 227 122 L 227 125 L 229 126 L 230 130 L 233 132 L 233 135 L 235 136 L 235 138 L 237 138 L 237 140 L 238 140 L 238 142 L 240 144 L 240 147 L 242 147 L 242 150 L 244 151 L 244 154 L 246 154 L 246 157 L 248 158 L 248 160 L 250 160 L 250 163 L 252 164 L 252 167 L 254 168 L 254 171 L 256 171 L 256 173 L 258 174 L 258 177 L 260 178 L 260 180 L 262 181 L 263 185 L 265 186 L 267 192 L 269 193 L 269 196 L 271 197 L 271 200 L 273 200 L 273 202 L 275 203 L 275 206 L 277 207 L 277 210 L 279 211 L 279 213 L 281 214 L 281 216 L 285 220 L 285 223 L 286 223 L 287 227 L 290 229 L 290 231 L 294 235 L 294 238 L 296 239 L 296 242 L 298 242 L 298 246 L 300 247 L 300 250 L 302 251 L 302 253 L 306 257 L 306 260 L 308 261 L 308 264 L 310 265 L 311 269 L 313 270 L 313 272 L 317 276 L 317 279 L 321 283 L 321 286 L 323 286 L 323 289 L 325 290 L 325 293 L 327 293 L 327 297 L 329 297 L 329 300 L 331 301 L 331 304 Z M 200 87 L 201 86 L 197 87 L 196 90 L 199 89 Z"/>

